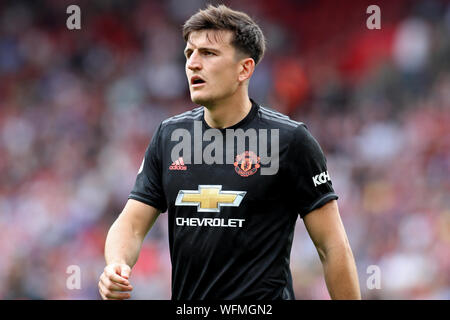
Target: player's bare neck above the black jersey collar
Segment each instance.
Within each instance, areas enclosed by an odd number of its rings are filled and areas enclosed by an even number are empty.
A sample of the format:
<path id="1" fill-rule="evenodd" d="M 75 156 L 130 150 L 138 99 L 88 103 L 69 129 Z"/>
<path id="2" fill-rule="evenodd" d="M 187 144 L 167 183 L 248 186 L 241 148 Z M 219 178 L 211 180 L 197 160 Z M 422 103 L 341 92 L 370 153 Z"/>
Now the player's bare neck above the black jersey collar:
<path id="1" fill-rule="evenodd" d="M 244 119 L 251 108 L 248 94 L 234 95 L 205 105 L 205 121 L 211 128 L 228 128 Z"/>

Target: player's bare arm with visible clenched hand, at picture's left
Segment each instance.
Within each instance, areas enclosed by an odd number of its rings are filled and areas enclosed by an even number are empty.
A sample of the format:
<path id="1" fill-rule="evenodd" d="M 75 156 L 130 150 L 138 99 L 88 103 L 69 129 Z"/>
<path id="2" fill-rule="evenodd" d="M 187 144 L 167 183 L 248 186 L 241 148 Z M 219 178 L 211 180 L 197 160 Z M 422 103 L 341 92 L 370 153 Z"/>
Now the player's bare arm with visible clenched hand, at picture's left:
<path id="1" fill-rule="evenodd" d="M 102 299 L 128 299 L 133 290 L 129 282 L 142 242 L 160 210 L 129 199 L 109 229 L 105 243 L 106 267 L 98 283 Z"/>

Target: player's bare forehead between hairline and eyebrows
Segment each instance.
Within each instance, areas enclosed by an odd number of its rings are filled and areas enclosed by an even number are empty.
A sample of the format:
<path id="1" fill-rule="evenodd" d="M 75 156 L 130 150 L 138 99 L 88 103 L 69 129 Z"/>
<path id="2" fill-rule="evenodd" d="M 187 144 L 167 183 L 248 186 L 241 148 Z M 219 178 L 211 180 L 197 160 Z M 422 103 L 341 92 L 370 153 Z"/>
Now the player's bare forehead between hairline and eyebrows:
<path id="1" fill-rule="evenodd" d="M 213 47 L 217 49 L 232 49 L 233 33 L 228 30 L 200 30 L 189 34 L 186 48 Z"/>

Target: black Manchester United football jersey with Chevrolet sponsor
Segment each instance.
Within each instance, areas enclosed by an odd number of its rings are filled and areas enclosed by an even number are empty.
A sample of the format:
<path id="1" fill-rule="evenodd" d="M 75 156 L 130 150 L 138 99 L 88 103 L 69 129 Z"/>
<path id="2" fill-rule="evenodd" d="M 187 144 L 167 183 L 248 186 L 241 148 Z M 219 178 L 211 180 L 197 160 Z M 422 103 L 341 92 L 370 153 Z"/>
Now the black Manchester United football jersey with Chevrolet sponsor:
<path id="1" fill-rule="evenodd" d="M 203 107 L 163 121 L 129 196 L 167 210 L 172 299 L 295 299 L 298 215 L 337 199 L 307 127 L 258 105 L 225 129 Z"/>

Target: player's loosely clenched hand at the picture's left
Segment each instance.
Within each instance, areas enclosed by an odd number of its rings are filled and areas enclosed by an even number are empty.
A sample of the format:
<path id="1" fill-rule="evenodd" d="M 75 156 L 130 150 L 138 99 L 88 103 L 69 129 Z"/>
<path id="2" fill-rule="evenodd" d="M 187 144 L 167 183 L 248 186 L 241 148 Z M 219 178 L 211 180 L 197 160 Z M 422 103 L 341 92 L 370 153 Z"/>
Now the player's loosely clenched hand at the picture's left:
<path id="1" fill-rule="evenodd" d="M 123 300 L 131 297 L 128 291 L 133 290 L 128 281 L 131 268 L 124 263 L 111 263 L 105 267 L 98 282 L 103 300 Z"/>

